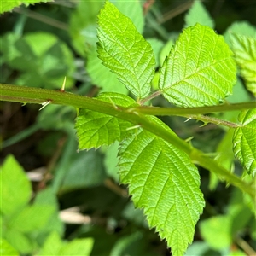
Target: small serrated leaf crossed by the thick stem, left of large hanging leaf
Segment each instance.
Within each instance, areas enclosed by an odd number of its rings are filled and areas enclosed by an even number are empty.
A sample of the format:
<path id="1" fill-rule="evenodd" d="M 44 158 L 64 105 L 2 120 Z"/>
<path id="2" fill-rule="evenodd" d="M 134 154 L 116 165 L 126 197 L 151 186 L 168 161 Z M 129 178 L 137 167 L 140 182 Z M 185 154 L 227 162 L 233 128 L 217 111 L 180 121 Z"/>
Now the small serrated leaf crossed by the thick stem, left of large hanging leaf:
<path id="1" fill-rule="evenodd" d="M 102 93 L 98 99 L 123 107 L 135 104 L 130 97 L 117 93 Z M 121 141 L 129 127 L 131 127 L 130 122 L 82 108 L 75 125 L 79 137 L 79 149 L 99 148 Z"/>

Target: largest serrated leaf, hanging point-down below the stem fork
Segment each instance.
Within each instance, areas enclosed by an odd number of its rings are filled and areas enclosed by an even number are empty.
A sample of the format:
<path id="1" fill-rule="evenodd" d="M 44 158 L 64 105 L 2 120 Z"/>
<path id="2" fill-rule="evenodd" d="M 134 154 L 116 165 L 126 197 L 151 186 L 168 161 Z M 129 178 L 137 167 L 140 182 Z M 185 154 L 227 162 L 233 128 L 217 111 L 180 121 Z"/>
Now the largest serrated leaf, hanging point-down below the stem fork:
<path id="1" fill-rule="evenodd" d="M 166 239 L 172 255 L 183 255 L 204 207 L 200 177 L 189 156 L 141 130 L 121 143 L 119 173 L 149 226 Z"/>

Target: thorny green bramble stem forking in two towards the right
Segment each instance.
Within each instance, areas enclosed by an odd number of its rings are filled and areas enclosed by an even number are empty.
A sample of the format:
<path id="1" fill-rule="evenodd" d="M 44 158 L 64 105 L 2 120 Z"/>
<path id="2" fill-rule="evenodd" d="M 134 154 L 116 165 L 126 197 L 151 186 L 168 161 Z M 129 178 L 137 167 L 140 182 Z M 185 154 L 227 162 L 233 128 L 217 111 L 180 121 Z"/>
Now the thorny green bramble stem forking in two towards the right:
<path id="1" fill-rule="evenodd" d="M 38 104 L 45 104 L 45 102 L 49 102 L 52 104 L 73 106 L 75 108 L 87 108 L 92 111 L 112 115 L 119 119 L 125 119 L 126 121 L 129 121 L 134 125 L 139 125 L 143 129 L 163 138 L 164 140 L 166 140 L 166 142 L 172 143 L 172 145 L 176 146 L 177 148 L 183 150 L 183 152 L 188 154 L 191 160 L 193 160 L 199 166 L 203 166 L 210 171 L 215 172 L 216 174 L 218 174 L 218 176 L 221 175 L 228 183 L 237 186 L 242 191 L 246 192 L 251 196 L 255 195 L 254 189 L 248 186 L 247 183 L 244 183 L 239 177 L 236 177 L 236 175 L 230 173 L 222 166 L 218 166 L 218 163 L 215 160 L 212 160 L 211 158 L 204 155 L 201 151 L 193 148 L 189 145 L 189 143 L 185 143 L 182 139 L 177 137 L 171 131 L 168 131 L 162 126 L 156 124 L 154 121 L 152 121 L 152 119 L 148 119 L 145 115 L 185 115 L 195 113 L 209 113 L 216 111 L 230 111 L 234 110 L 234 108 L 230 108 L 231 105 L 202 108 L 164 108 L 164 110 L 162 108 L 154 107 L 124 108 L 119 106 L 113 106 L 113 104 L 108 102 L 102 102 L 87 96 L 79 96 L 61 90 L 47 90 L 26 86 L 15 86 L 10 84 L 0 84 L 0 100 L 8 102 Z M 253 108 L 254 104 L 254 102 L 245 102 L 240 104 L 233 104 L 232 106 L 235 106 L 236 110 L 238 110 Z"/>

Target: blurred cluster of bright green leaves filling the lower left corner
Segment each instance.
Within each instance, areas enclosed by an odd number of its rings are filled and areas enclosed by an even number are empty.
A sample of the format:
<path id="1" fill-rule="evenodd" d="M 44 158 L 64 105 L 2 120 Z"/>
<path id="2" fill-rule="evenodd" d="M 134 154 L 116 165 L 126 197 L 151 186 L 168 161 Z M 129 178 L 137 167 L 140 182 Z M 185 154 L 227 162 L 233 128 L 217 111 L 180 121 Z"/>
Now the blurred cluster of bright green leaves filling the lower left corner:
<path id="1" fill-rule="evenodd" d="M 31 253 L 36 255 L 90 255 L 90 238 L 61 241 L 64 225 L 59 219 L 58 203 L 53 191 L 40 191 L 32 197 L 32 184 L 15 158 L 4 161 L 0 172 L 1 190 L 1 254 Z M 15 186 L 14 186 L 15 184 Z"/>

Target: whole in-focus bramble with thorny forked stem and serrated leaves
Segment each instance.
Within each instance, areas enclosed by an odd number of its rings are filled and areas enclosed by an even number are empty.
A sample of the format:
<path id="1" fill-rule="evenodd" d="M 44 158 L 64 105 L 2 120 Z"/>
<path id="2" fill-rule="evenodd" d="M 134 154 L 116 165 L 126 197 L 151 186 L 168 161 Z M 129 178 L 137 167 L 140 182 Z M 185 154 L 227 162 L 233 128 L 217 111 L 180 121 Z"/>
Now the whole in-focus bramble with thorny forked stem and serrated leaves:
<path id="1" fill-rule="evenodd" d="M 0 84 L 2 101 L 78 108 L 75 129 L 80 150 L 119 142 L 120 182 L 127 184 L 134 205 L 143 208 L 149 227 L 166 240 L 174 256 L 183 255 L 193 241 L 205 207 L 198 166 L 240 189 L 255 213 L 255 102 L 230 103 L 225 97 L 232 95 L 236 67 L 247 90 L 256 95 L 256 38 L 235 29 L 225 41 L 210 27 L 212 20 L 207 26 L 195 24 L 193 15 L 199 8 L 201 3 L 195 2 L 186 27 L 156 71 L 151 44 L 130 18 L 113 3 L 105 3 L 98 15 L 98 58 L 131 96 L 124 89 L 90 98 L 64 89 Z M 172 107 L 154 107 L 158 96 Z M 237 121 L 210 114 L 235 110 L 240 111 Z M 222 152 L 213 156 L 202 152 L 193 138 L 183 140 L 156 117 L 166 115 L 221 125 L 227 134 L 231 132 L 234 154 L 244 170 L 241 177 L 225 165 Z"/>

